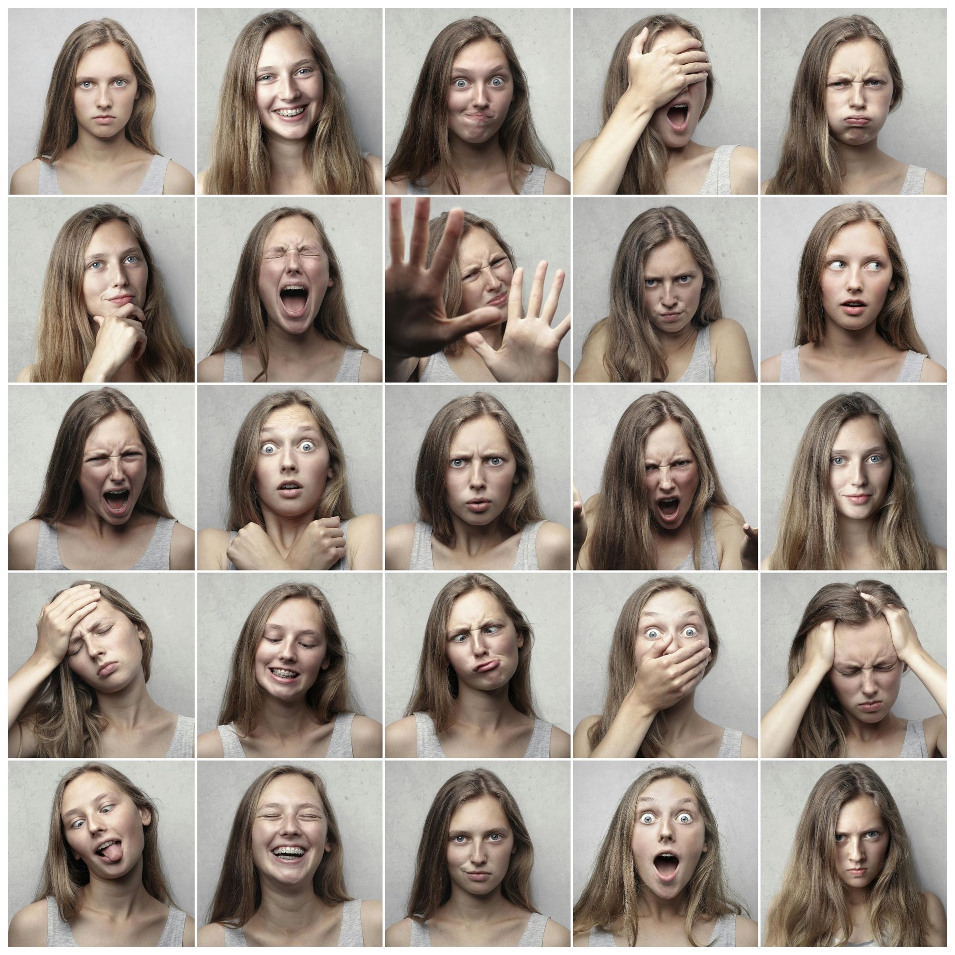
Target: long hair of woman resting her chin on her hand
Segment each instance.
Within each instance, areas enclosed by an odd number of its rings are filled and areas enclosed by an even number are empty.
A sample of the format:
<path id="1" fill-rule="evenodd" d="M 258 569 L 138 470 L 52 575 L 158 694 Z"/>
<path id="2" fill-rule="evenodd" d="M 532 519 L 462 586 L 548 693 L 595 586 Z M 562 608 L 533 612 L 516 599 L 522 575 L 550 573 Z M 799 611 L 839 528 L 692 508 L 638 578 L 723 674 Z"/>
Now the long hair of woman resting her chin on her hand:
<path id="1" fill-rule="evenodd" d="M 176 328 L 162 272 L 142 225 L 131 212 L 112 202 L 80 209 L 56 234 L 40 295 L 36 364 L 31 381 L 83 380 L 83 372 L 96 349 L 96 330 L 83 297 L 83 262 L 96 229 L 113 222 L 123 223 L 133 233 L 149 269 L 142 306 L 149 334 L 146 350 L 136 363 L 137 371 L 150 382 L 195 381 L 192 353 Z"/>

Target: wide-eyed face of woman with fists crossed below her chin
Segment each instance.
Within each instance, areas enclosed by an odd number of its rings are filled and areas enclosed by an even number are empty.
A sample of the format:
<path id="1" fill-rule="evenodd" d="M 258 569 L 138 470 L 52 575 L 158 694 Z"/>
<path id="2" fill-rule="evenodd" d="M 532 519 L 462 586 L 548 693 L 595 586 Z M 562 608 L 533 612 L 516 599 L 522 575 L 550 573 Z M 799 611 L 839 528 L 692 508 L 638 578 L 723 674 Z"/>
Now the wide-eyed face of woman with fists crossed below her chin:
<path id="1" fill-rule="evenodd" d="M 252 477 L 263 508 L 288 519 L 314 513 L 333 477 L 329 459 L 325 435 L 308 408 L 289 405 L 269 414 Z"/>

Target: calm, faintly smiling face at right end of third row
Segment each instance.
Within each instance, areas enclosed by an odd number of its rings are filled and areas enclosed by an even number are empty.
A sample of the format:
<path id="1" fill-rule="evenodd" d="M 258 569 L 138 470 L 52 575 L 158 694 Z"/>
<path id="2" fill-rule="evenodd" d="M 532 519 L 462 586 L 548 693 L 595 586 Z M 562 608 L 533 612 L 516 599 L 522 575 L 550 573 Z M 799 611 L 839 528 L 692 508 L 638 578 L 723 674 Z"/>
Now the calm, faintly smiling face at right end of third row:
<path id="1" fill-rule="evenodd" d="M 829 454 L 829 487 L 836 513 L 866 520 L 881 508 L 892 479 L 892 457 L 879 422 L 871 415 L 846 421 Z"/>

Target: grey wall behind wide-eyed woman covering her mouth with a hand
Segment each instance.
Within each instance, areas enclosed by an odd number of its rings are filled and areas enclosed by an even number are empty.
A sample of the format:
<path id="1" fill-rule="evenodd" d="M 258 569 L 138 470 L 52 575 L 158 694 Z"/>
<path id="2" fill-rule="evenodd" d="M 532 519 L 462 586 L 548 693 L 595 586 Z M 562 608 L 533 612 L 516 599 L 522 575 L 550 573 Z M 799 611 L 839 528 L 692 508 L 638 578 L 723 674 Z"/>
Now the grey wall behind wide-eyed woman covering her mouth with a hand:
<path id="1" fill-rule="evenodd" d="M 575 574 L 574 726 L 604 710 L 606 663 L 617 618 L 637 587 L 659 574 Z M 713 723 L 758 736 L 756 579 L 752 574 L 690 574 L 707 599 L 720 647 L 696 690 L 696 711 Z"/>

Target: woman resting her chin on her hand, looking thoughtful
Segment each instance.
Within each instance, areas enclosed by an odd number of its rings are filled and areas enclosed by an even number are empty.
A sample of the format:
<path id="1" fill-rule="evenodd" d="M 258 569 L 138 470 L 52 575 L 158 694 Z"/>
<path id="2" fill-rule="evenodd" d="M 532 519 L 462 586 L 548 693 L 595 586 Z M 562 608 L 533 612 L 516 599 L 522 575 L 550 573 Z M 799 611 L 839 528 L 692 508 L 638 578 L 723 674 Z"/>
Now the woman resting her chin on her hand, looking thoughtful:
<path id="1" fill-rule="evenodd" d="M 40 295 L 36 364 L 17 381 L 195 381 L 162 273 L 136 216 L 104 202 L 56 235 Z"/>

